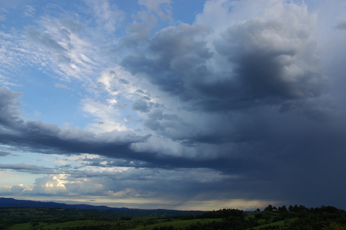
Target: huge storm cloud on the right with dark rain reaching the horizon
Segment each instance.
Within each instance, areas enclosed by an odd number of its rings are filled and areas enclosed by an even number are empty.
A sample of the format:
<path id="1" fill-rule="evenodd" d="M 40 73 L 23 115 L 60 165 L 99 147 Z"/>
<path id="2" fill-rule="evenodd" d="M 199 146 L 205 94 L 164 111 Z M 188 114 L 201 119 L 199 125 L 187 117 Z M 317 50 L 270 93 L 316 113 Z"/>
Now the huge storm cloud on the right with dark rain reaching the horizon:
<path id="1" fill-rule="evenodd" d="M 285 194 L 286 200 L 315 205 L 318 194 L 328 194 L 321 184 L 328 184 L 342 196 L 345 185 L 332 185 L 346 175 L 344 116 L 327 95 L 330 83 L 309 26 L 295 19 L 256 18 L 231 25 L 213 40 L 214 53 L 203 42 L 210 30 L 169 27 L 121 62 L 195 112 L 200 122 L 184 124 L 183 117 L 155 109 L 143 125 L 195 148 L 200 155 L 188 167 L 204 165 L 241 176 L 215 185 L 220 191 L 244 199 L 279 200 Z M 222 57 L 228 66 L 210 67 Z M 179 158 L 166 159 L 184 166 Z M 303 194 L 292 190 L 297 184 Z M 254 188 L 257 195 L 244 192 Z M 328 201 L 322 198 L 319 205 Z"/>

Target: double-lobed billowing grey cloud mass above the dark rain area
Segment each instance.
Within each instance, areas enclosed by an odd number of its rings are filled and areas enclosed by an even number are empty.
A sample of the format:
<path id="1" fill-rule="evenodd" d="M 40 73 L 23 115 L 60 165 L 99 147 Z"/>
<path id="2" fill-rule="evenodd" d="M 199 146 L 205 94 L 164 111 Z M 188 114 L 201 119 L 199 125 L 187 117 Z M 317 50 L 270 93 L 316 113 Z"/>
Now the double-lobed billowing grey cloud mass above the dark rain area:
<path id="1" fill-rule="evenodd" d="M 154 34 L 145 49 L 121 61 L 159 89 L 179 96 L 190 110 L 232 110 L 314 98 L 328 90 L 309 27 L 284 19 L 251 19 L 229 27 L 214 40 L 217 62 L 203 38 L 211 30 L 181 24 Z"/>

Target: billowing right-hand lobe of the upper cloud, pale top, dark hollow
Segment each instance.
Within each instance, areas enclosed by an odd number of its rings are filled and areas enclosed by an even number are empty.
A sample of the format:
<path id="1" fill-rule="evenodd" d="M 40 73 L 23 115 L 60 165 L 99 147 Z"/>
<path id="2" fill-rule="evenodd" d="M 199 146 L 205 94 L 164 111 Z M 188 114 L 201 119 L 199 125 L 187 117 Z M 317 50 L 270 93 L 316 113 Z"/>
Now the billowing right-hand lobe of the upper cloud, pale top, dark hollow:
<path id="1" fill-rule="evenodd" d="M 214 42 L 216 50 L 236 64 L 236 79 L 249 99 L 299 99 L 325 91 L 326 77 L 308 29 L 252 19 L 221 37 Z"/>

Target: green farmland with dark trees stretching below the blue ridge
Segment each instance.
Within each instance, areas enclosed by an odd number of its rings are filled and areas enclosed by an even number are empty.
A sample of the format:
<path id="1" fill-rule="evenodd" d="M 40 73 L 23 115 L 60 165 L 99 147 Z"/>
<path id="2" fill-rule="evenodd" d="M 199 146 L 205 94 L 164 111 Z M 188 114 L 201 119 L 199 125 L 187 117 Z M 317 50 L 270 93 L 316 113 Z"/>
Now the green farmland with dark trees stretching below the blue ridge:
<path id="1" fill-rule="evenodd" d="M 238 209 L 220 209 L 166 217 L 163 212 L 145 211 L 152 216 L 118 216 L 112 210 L 61 208 L 1 208 L 0 229 L 4 230 L 192 230 L 192 229 L 345 229 L 346 213 L 333 206 L 307 209 L 298 205 L 298 212 L 262 211 L 244 213 Z M 293 206 L 292 206 L 293 207 Z M 294 207 L 293 207 L 294 208 Z M 126 211 L 127 212 L 127 211 Z M 122 212 L 128 214 L 126 212 Z M 139 213 L 131 212 L 132 214 Z M 97 214 L 97 215 L 95 215 Z M 118 213 L 119 214 L 119 213 Z M 156 215 L 156 216 L 153 216 Z"/>

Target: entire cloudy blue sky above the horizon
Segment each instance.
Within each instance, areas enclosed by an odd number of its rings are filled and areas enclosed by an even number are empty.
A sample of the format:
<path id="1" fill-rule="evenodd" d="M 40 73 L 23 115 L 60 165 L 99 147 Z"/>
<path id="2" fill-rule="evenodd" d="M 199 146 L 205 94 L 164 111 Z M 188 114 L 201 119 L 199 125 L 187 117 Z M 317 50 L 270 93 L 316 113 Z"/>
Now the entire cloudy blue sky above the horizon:
<path id="1" fill-rule="evenodd" d="M 346 209 L 344 0 L 1 0 L 0 196 Z"/>

